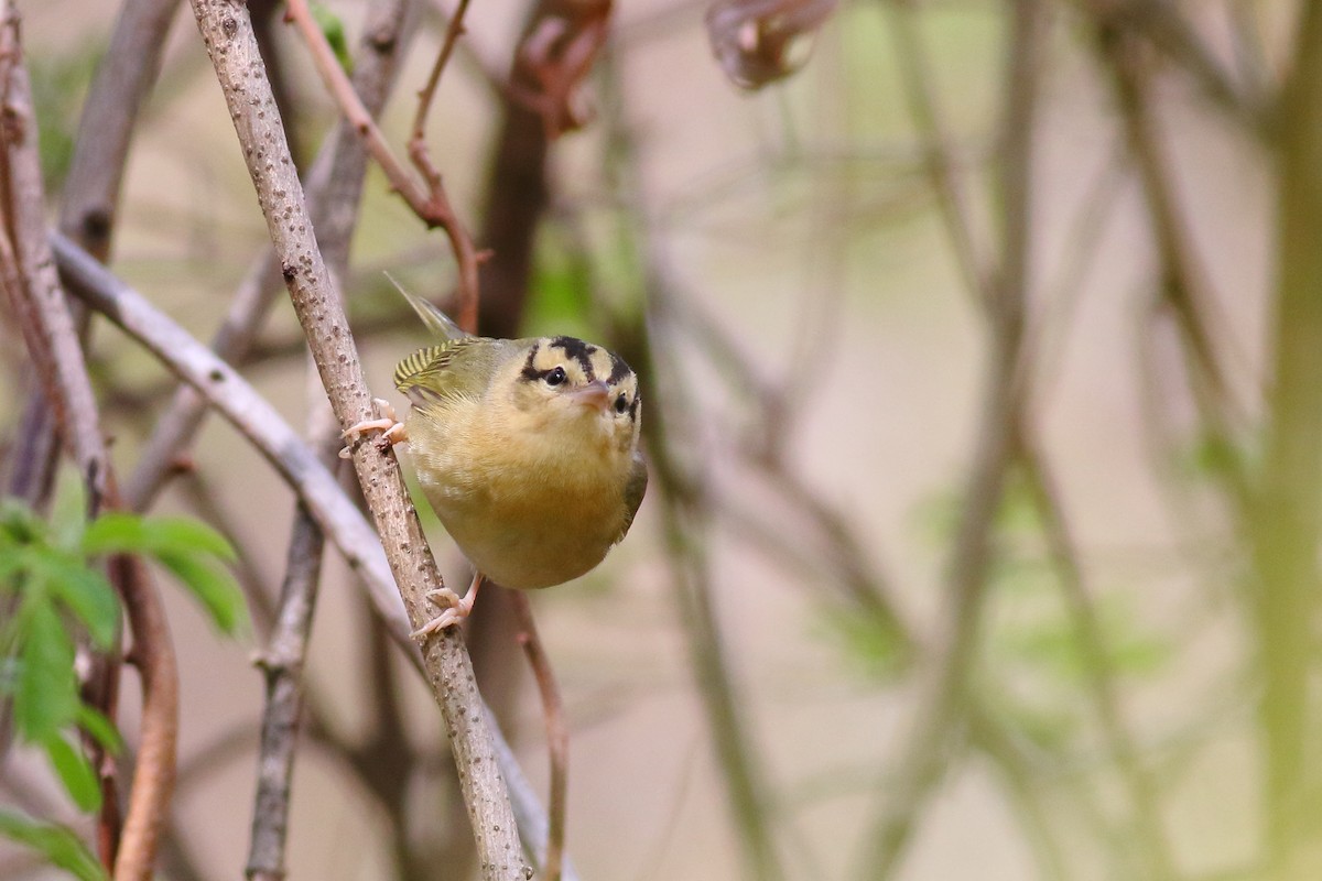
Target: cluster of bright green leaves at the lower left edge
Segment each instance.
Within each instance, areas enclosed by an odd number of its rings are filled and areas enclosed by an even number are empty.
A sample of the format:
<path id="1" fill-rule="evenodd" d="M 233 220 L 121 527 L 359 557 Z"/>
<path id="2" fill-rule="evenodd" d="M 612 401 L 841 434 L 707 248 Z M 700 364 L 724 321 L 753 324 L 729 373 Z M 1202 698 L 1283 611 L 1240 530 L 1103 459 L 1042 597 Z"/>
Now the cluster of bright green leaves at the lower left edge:
<path id="1" fill-rule="evenodd" d="M 99 650 L 115 645 L 120 605 L 97 560 L 137 553 L 157 560 L 202 604 L 217 627 L 246 619 L 243 596 L 218 561 L 229 543 L 180 518 L 108 512 L 83 523 L 82 501 L 62 499 L 52 522 L 16 499 L 0 501 L 0 696 L 12 701 L 17 737 L 45 753 L 79 810 L 100 807 L 97 774 L 78 745 L 81 729 L 108 750 L 120 748 L 108 719 L 83 703 L 74 671 L 79 634 Z M 103 873 L 69 829 L 0 815 L 0 833 L 32 847 L 81 878 Z"/>

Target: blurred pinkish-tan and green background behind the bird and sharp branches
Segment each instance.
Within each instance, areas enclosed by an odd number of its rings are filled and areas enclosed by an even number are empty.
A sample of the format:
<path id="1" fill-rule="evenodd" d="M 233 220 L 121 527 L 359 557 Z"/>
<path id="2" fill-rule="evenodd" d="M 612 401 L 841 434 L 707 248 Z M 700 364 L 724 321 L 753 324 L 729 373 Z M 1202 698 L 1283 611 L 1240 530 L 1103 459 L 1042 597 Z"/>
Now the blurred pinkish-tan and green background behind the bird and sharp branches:
<path id="1" fill-rule="evenodd" d="M 115 5 L 21 9 L 52 217 Z M 334 107 L 283 9 L 249 7 L 311 164 Z M 325 5 L 350 53 L 368 7 Z M 410 13 L 382 116 L 401 153 L 452 11 Z M 493 251 L 484 332 L 582 335 L 644 376 L 631 535 L 533 597 L 580 876 L 1322 877 L 1322 4 L 635 0 L 564 132 L 505 85 L 557 15 L 604 13 L 475 4 L 427 137 Z M 268 244 L 186 5 L 168 33 L 110 265 L 210 339 Z M 446 238 L 373 168 L 341 281 L 402 408 L 390 374 L 426 333 L 382 271 L 455 287 Z M 24 353 L 0 333 L 9 435 Z M 103 322 L 89 351 L 131 483 L 176 380 Z M 295 425 L 304 353 L 276 299 L 235 359 Z M 221 420 L 184 456 L 151 509 L 231 539 L 253 627 L 221 638 L 164 590 L 182 730 L 161 877 L 231 878 L 293 497 Z M 477 877 L 427 687 L 327 560 L 291 877 Z M 469 646 L 545 791 L 506 606 L 484 592 Z M 22 750 L 0 783 L 90 828 Z M 50 873 L 0 844 L 0 876 Z"/>

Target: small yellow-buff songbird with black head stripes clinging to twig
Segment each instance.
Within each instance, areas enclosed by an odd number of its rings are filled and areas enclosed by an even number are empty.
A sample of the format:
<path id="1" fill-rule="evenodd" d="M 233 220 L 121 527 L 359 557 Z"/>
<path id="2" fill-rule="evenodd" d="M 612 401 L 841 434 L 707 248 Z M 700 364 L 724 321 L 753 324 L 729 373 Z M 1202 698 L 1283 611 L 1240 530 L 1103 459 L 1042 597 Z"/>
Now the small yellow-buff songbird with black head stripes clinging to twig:
<path id="1" fill-rule="evenodd" d="M 393 281 L 393 279 L 391 279 Z M 395 285 L 399 287 L 399 285 Z M 574 337 L 468 337 L 439 309 L 401 288 L 444 339 L 395 367 L 411 404 L 345 431 L 383 431 L 408 442 L 427 501 L 476 568 L 467 596 L 414 633 L 442 630 L 472 612 L 483 579 L 549 588 L 595 568 L 642 503 L 639 378 L 619 355 Z"/>

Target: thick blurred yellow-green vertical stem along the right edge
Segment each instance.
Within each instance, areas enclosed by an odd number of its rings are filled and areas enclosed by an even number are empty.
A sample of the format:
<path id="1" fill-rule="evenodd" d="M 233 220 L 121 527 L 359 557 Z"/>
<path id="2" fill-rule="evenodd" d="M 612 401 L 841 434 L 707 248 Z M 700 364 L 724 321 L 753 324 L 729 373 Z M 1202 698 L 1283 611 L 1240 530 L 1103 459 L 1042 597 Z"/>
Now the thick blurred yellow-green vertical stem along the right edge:
<path id="1" fill-rule="evenodd" d="M 1318 872 L 1305 798 L 1319 779 L 1315 729 L 1318 539 L 1322 535 L 1322 3 L 1305 3 L 1280 96 L 1272 384 L 1259 498 L 1251 509 L 1252 592 L 1265 759 L 1270 878 Z M 1302 847 L 1303 844 L 1309 847 Z M 1311 856 L 1310 856 L 1311 855 Z"/>

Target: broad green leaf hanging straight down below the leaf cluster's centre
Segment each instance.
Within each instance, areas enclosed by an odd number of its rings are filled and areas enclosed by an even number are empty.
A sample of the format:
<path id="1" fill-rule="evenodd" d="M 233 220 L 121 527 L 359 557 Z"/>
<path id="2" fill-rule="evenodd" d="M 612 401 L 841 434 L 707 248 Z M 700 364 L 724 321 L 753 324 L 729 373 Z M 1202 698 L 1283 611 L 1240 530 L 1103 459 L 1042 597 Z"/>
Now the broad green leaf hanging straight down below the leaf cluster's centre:
<path id="1" fill-rule="evenodd" d="M 78 713 L 74 645 L 59 613 L 45 598 L 29 600 L 20 651 L 13 720 L 24 740 L 40 744 L 70 725 Z"/>

